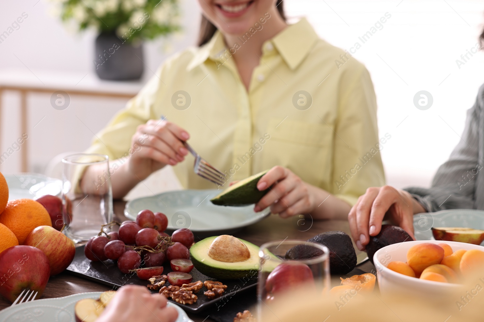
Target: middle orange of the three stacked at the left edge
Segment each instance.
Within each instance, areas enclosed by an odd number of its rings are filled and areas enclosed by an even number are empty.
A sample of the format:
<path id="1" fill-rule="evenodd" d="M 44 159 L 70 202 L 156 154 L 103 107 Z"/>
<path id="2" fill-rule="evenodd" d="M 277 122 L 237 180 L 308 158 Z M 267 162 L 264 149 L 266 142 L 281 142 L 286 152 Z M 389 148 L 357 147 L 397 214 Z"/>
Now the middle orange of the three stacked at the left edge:
<path id="1" fill-rule="evenodd" d="M 52 226 L 49 213 L 39 202 L 32 199 L 15 199 L 7 203 L 0 214 L 0 223 L 7 226 L 22 245 L 30 232 L 38 226 Z"/>

